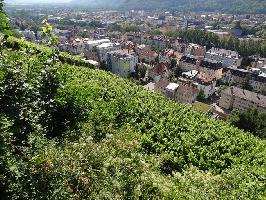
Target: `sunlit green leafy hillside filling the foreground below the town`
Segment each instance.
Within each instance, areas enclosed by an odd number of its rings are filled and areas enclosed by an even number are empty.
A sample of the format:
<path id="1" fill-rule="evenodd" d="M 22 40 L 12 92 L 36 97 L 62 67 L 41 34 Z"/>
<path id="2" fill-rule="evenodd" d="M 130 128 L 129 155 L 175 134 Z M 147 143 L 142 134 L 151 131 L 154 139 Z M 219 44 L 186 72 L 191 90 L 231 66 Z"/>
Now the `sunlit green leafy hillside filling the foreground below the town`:
<path id="1" fill-rule="evenodd" d="M 265 199 L 265 141 L 76 57 L 6 47 L 1 197 Z"/>

